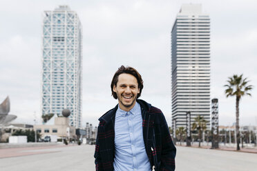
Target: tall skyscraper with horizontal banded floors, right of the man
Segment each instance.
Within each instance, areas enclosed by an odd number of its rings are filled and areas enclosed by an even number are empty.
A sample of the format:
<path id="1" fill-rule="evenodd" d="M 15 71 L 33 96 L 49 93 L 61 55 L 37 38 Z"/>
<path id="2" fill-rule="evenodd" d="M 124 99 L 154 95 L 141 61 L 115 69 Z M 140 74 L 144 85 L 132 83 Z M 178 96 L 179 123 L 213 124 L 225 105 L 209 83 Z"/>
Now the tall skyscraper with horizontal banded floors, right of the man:
<path id="1" fill-rule="evenodd" d="M 210 19 L 202 13 L 200 4 L 182 5 L 175 19 L 171 73 L 172 119 L 176 127 L 186 127 L 187 112 L 191 112 L 191 123 L 199 114 L 210 121 Z"/>

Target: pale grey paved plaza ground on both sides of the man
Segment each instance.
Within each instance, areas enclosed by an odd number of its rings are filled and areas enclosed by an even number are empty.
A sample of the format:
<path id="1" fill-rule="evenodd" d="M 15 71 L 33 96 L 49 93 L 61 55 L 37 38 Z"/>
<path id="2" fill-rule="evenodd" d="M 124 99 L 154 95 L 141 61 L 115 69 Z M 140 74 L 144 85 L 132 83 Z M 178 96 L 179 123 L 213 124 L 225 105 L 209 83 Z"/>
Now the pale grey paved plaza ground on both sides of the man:
<path id="1" fill-rule="evenodd" d="M 93 171 L 94 145 L 0 149 L 1 171 Z M 177 146 L 176 170 L 256 170 L 257 154 Z"/>

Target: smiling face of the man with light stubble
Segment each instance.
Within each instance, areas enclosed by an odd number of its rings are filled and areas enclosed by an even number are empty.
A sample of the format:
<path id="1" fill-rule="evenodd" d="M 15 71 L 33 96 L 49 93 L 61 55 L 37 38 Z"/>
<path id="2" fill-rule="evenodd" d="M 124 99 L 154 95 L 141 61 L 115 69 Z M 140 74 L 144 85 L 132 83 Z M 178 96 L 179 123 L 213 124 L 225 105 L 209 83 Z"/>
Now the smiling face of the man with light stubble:
<path id="1" fill-rule="evenodd" d="M 140 89 L 138 88 L 137 79 L 132 74 L 120 74 L 117 86 L 113 86 L 113 91 L 117 94 L 120 108 L 129 111 L 135 105 Z"/>

